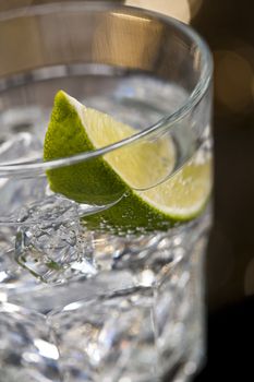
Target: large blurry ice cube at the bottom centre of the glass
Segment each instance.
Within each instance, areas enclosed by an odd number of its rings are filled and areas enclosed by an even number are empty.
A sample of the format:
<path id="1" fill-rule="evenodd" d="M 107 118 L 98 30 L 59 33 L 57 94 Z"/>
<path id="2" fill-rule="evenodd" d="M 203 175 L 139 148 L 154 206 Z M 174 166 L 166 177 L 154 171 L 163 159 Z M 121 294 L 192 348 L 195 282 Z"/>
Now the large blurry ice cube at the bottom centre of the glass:
<path id="1" fill-rule="evenodd" d="M 157 366 L 153 294 L 122 295 L 72 302 L 49 322 L 61 353 L 60 368 L 70 382 L 153 379 Z"/>

